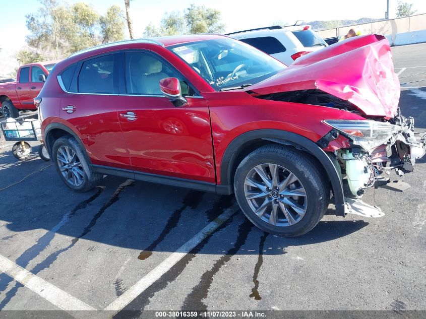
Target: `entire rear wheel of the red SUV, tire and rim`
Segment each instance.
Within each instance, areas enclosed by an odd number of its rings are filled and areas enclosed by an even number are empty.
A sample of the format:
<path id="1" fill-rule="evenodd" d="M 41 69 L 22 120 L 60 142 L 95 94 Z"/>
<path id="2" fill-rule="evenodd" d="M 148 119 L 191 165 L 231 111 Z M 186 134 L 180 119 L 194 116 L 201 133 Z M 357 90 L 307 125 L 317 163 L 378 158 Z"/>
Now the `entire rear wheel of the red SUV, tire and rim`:
<path id="1" fill-rule="evenodd" d="M 102 175 L 90 168 L 88 158 L 71 136 L 64 136 L 55 141 L 52 157 L 60 178 L 77 192 L 86 192 L 96 187 L 102 179 Z"/>

